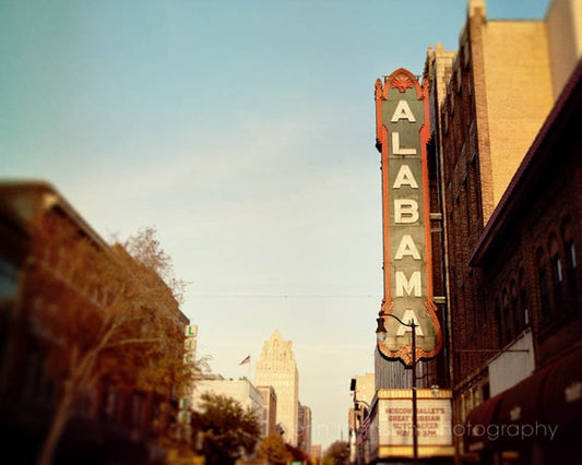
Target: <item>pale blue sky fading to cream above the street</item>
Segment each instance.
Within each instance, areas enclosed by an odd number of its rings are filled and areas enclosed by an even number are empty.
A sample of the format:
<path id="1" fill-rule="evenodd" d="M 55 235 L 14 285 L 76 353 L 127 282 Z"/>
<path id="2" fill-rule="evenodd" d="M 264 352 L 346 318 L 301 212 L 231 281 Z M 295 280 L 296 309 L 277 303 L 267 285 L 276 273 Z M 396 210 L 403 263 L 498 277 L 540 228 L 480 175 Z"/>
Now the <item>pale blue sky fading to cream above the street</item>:
<path id="1" fill-rule="evenodd" d="M 0 180 L 50 182 L 107 240 L 154 227 L 198 356 L 254 381 L 278 330 L 313 443 L 347 440 L 382 300 L 373 85 L 456 50 L 466 4 L 0 0 Z"/>

